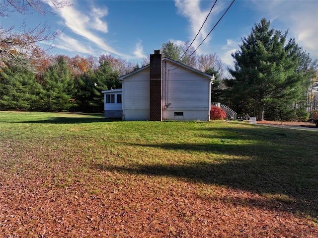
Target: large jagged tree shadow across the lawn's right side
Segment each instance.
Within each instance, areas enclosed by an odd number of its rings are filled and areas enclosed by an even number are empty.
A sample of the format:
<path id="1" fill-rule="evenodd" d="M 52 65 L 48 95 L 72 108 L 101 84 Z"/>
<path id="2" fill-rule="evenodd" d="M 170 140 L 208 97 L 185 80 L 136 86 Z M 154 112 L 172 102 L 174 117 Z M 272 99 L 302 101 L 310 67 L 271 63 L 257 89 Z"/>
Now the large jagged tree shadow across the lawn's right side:
<path id="1" fill-rule="evenodd" d="M 204 129 L 206 130 L 206 129 Z M 277 209 L 288 212 L 301 212 L 317 219 L 318 216 L 318 153 L 315 148 L 306 145 L 290 145 L 291 137 L 297 138 L 301 132 L 281 133 L 277 129 L 255 127 L 246 131 L 239 128 L 218 128 L 222 132 L 229 131 L 219 144 L 213 143 L 125 143 L 129 147 L 148 147 L 163 151 L 183 153 L 206 153 L 211 159 L 204 161 L 143 164 L 133 163 L 116 166 L 104 163 L 93 164 L 94 169 L 117 171 L 131 174 L 168 176 L 186 179 L 198 183 L 225 185 L 257 194 L 287 196 L 282 199 L 283 205 Z M 264 133 L 266 130 L 267 133 Z M 226 133 L 227 134 L 227 133 Z M 231 134 L 231 135 L 230 135 Z M 242 136 L 244 135 L 244 136 Z M 314 133 L 310 136 L 313 144 Z M 207 137 L 207 135 L 202 135 Z M 231 139 L 229 140 L 229 137 Z M 231 140 L 246 138 L 254 140 L 254 144 L 233 144 Z M 293 139 L 295 142 L 295 139 Z M 215 155 L 226 155 L 226 159 L 213 159 Z M 312 157 L 307 156 L 312 155 Z M 238 159 L 241 158 L 241 159 Z M 278 199 L 279 200 L 279 199 Z M 293 202 L 291 202 L 293 201 Z M 280 202 L 280 201 L 279 201 Z M 246 201 L 242 201 L 246 203 Z M 254 202 L 246 203 L 254 206 Z M 256 206 L 256 205 L 255 205 Z M 271 205 L 268 204 L 270 207 Z M 269 208 L 271 209 L 271 208 Z"/>

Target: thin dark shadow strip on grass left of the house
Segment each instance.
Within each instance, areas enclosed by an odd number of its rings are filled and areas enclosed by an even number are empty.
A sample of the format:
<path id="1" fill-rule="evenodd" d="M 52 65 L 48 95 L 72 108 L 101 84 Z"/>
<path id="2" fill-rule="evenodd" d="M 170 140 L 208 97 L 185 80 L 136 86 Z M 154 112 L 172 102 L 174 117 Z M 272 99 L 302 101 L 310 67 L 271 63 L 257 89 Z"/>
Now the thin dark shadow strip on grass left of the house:
<path id="1" fill-rule="evenodd" d="M 39 123 L 39 124 L 78 124 L 78 123 L 95 123 L 95 122 L 114 122 L 121 119 L 106 119 L 104 117 L 48 117 L 46 120 L 30 120 L 7 123 Z M 5 122 L 5 121 L 4 121 Z"/>

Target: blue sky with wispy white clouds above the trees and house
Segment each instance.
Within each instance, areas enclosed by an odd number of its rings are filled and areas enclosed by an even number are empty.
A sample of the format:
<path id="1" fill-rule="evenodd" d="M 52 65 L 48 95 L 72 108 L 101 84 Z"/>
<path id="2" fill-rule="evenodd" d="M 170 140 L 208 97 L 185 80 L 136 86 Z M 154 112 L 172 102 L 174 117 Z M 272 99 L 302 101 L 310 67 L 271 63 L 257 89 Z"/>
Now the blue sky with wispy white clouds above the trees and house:
<path id="1" fill-rule="evenodd" d="M 43 0 L 45 1 L 45 0 Z M 69 0 L 71 6 L 54 9 L 42 16 L 36 12 L 13 12 L 1 25 L 26 28 L 46 23 L 62 33 L 52 41 L 50 54 L 74 57 L 111 54 L 132 62 L 159 49 L 162 43 L 192 41 L 215 0 Z M 198 46 L 219 20 L 232 0 L 218 0 L 202 28 Z M 50 7 L 50 6 L 49 6 Z M 217 53 L 232 64 L 231 53 L 239 49 L 241 37 L 251 32 L 262 17 L 277 30 L 289 30 L 313 59 L 318 59 L 318 0 L 236 0 L 197 53 Z"/>

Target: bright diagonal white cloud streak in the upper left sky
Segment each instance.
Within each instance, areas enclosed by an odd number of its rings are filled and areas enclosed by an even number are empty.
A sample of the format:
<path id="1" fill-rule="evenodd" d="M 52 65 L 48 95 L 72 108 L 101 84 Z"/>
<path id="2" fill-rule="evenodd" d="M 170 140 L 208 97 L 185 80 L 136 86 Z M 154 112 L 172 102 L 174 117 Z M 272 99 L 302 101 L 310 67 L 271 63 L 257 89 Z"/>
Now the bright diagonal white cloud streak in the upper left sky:
<path id="1" fill-rule="evenodd" d="M 57 14 L 59 14 L 63 18 L 66 27 L 71 29 L 74 33 L 86 38 L 104 51 L 121 57 L 126 57 L 124 54 L 121 54 L 120 52 L 110 47 L 103 40 L 103 38 L 99 37 L 92 30 L 98 29 L 99 31 L 107 32 L 107 24 L 103 23 L 100 19 L 102 16 L 108 13 L 107 11 L 102 12 L 102 10 L 100 9 L 93 8 L 93 12 L 95 12 L 96 15 L 91 18 L 87 14 L 82 13 L 78 9 L 76 9 L 76 4 L 73 0 L 69 1 L 72 4 L 71 6 L 65 6 L 60 9 L 55 9 L 51 1 L 48 1 L 47 3 L 56 11 Z M 92 27 L 92 25 L 94 24 L 96 25 Z"/>

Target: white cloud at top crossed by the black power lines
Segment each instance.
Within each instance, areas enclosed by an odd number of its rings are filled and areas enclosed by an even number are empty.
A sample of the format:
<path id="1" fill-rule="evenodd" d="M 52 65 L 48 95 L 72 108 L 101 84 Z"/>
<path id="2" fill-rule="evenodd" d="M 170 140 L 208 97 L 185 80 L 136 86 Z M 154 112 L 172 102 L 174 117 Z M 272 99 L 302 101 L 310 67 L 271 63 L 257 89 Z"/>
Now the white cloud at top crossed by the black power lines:
<path id="1" fill-rule="evenodd" d="M 178 9 L 178 13 L 185 16 L 191 28 L 191 36 L 193 39 L 196 34 L 199 32 L 200 27 L 202 26 L 204 20 L 206 19 L 210 8 L 202 10 L 200 8 L 200 0 L 175 0 L 175 6 Z M 212 5 L 211 5 L 212 6 Z M 203 41 L 203 39 L 208 35 L 211 30 L 211 22 L 212 19 L 215 19 L 217 13 L 219 13 L 223 9 L 223 3 L 216 4 L 207 20 L 207 22 L 202 27 L 200 33 L 198 34 L 196 40 L 193 43 L 193 46 L 197 48 L 197 46 Z M 207 38 L 204 44 L 209 42 L 209 38 Z"/>

